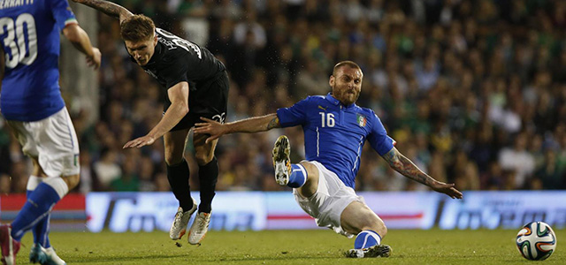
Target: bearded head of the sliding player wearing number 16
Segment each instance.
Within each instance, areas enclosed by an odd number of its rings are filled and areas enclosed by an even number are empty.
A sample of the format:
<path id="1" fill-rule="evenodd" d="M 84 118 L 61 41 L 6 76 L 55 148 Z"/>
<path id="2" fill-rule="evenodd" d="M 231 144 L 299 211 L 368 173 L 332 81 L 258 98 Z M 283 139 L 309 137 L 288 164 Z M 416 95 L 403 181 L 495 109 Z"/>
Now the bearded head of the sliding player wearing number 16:
<path id="1" fill-rule="evenodd" d="M 357 101 L 362 91 L 363 73 L 361 70 L 344 65 L 336 69 L 336 76 L 330 76 L 333 96 L 344 105 Z"/>

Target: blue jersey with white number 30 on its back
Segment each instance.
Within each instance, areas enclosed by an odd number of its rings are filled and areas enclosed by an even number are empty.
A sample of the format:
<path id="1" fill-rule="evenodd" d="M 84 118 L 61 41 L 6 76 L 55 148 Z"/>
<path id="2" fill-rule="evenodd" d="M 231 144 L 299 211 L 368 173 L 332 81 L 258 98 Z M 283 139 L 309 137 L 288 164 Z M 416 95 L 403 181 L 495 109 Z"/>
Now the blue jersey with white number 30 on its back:
<path id="1" fill-rule="evenodd" d="M 59 34 L 77 23 L 66 0 L 0 0 L 5 70 L 0 109 L 8 120 L 35 121 L 65 107 L 59 90 Z"/>

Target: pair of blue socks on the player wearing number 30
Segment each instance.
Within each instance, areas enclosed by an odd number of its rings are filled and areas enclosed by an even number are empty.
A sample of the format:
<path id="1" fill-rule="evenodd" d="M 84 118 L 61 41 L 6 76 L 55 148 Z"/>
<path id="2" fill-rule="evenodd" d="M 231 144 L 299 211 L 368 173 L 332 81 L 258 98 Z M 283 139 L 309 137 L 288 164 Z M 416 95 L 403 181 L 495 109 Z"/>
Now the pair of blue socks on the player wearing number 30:
<path id="1" fill-rule="evenodd" d="M 56 188 L 45 182 L 39 184 L 34 191 L 28 191 L 26 204 L 11 223 L 11 237 L 19 241 L 26 231 L 36 226 L 34 228 L 34 241 L 41 242 L 41 239 L 44 239 L 49 245 L 47 233 L 49 232 L 50 211 L 57 201 L 61 200 L 61 197 Z"/>

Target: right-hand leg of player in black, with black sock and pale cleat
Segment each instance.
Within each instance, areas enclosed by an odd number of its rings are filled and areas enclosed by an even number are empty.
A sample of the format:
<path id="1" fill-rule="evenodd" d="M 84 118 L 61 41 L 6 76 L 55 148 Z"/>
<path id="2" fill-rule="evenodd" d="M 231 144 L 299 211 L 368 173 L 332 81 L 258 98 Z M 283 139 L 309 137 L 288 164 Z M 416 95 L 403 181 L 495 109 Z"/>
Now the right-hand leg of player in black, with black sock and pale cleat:
<path id="1" fill-rule="evenodd" d="M 198 214 L 195 216 L 195 222 L 191 225 L 191 229 L 188 232 L 188 243 L 193 245 L 199 244 L 208 231 L 212 199 L 214 199 L 216 194 L 216 183 L 218 181 L 218 161 L 214 156 L 218 140 L 206 143 L 207 138 L 208 136 L 203 134 L 193 136 L 201 193 Z"/>

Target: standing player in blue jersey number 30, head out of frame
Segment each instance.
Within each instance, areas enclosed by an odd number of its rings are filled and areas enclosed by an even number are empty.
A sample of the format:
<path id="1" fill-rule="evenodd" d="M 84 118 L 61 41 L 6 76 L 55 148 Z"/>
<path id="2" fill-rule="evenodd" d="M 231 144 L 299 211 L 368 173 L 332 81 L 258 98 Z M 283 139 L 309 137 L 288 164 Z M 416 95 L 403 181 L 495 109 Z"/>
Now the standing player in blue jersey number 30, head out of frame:
<path id="1" fill-rule="evenodd" d="M 11 224 L 0 225 L 2 262 L 15 264 L 20 239 L 32 230 L 30 261 L 65 264 L 48 237 L 50 210 L 79 183 L 79 142 L 59 90 L 59 34 L 100 66 L 100 51 L 66 0 L 0 1 L 0 110 L 34 163 L 27 202 Z"/>

